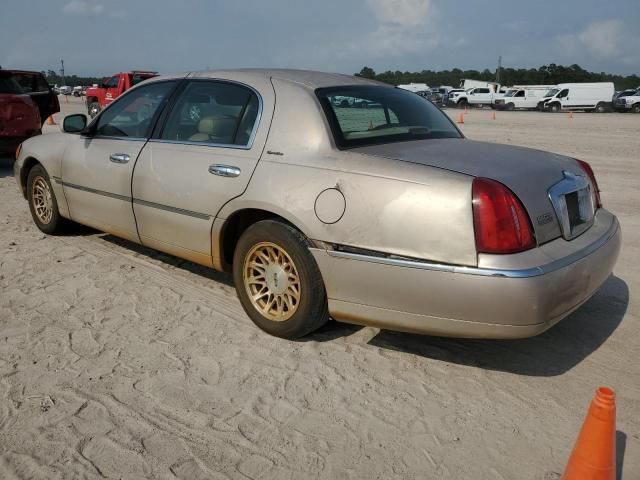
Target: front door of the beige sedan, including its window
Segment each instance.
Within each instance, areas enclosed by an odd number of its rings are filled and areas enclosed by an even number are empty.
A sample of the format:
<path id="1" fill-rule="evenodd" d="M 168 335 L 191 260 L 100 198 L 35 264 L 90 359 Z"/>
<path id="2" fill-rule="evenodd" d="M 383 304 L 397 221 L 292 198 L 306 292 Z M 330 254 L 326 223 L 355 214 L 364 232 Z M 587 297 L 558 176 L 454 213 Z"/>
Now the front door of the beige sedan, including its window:
<path id="1" fill-rule="evenodd" d="M 131 174 L 176 84 L 155 82 L 132 90 L 96 117 L 87 135 L 69 140 L 62 184 L 72 220 L 139 242 Z"/>

